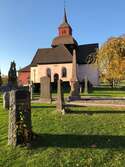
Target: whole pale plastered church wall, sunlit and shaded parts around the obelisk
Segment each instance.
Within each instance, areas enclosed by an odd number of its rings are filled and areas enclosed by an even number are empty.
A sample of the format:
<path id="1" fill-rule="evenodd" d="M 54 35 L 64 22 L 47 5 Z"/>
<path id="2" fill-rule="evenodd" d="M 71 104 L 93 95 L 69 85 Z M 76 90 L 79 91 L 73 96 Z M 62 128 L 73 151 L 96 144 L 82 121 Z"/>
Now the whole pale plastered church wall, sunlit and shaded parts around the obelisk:
<path id="1" fill-rule="evenodd" d="M 62 68 L 67 69 L 67 77 L 61 77 Z M 66 64 L 45 64 L 31 67 L 31 81 L 34 83 L 40 83 L 40 78 L 46 76 L 47 68 L 51 69 L 51 82 L 54 81 L 54 74 L 59 74 L 59 78 L 63 81 L 70 81 L 72 77 L 72 63 Z M 35 76 L 34 76 L 35 71 Z M 77 65 L 78 80 L 82 81 L 85 76 L 88 77 L 89 81 L 94 85 L 99 85 L 99 72 L 94 64 Z"/>

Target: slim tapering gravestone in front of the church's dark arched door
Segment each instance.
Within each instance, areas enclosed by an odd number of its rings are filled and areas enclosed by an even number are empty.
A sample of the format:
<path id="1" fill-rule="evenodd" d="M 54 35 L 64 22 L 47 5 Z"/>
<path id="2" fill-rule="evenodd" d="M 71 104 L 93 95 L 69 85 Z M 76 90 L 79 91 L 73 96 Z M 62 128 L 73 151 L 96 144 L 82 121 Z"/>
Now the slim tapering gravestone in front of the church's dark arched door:
<path id="1" fill-rule="evenodd" d="M 64 113 L 65 111 L 64 94 L 62 90 L 62 80 L 61 79 L 58 80 L 56 110 L 62 113 Z"/>

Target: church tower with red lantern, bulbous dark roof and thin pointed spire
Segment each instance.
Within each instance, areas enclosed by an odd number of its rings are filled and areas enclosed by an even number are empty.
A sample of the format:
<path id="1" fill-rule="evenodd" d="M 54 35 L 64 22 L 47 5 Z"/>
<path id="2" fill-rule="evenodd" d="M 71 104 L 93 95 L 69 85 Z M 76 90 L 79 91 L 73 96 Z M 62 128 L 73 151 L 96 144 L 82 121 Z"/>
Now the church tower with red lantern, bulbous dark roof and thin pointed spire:
<path id="1" fill-rule="evenodd" d="M 77 41 L 72 36 L 72 27 L 68 23 L 66 9 L 64 8 L 63 22 L 58 27 L 58 36 L 53 39 L 52 47 L 65 45 L 71 52 L 78 46 Z"/>

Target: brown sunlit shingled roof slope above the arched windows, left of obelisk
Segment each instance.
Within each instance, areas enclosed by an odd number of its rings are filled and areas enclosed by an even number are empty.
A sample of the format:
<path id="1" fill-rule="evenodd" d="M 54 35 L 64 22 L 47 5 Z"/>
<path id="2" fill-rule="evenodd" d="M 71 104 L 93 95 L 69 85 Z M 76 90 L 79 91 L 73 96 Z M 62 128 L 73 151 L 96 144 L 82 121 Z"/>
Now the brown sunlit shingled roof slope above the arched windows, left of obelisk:
<path id="1" fill-rule="evenodd" d="M 64 45 L 56 48 L 38 49 L 31 66 L 37 64 L 71 63 L 72 55 Z"/>

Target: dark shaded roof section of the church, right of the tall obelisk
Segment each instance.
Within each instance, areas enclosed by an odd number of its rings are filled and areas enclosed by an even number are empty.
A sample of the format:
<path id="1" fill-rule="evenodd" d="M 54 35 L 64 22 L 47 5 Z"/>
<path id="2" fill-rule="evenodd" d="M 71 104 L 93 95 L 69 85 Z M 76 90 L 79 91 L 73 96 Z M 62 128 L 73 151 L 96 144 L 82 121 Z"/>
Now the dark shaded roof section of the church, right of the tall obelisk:
<path id="1" fill-rule="evenodd" d="M 89 63 L 94 62 L 98 47 L 98 43 L 79 45 L 77 50 L 78 64 L 88 64 L 88 59 Z"/>

